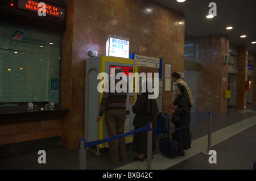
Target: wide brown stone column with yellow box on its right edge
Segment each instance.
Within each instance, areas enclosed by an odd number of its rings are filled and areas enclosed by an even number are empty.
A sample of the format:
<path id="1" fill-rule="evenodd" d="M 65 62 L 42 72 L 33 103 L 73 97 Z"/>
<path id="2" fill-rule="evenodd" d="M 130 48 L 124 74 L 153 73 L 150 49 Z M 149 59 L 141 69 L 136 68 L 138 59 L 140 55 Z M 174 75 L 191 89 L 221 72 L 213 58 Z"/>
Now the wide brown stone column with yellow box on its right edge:
<path id="1" fill-rule="evenodd" d="M 228 99 L 228 64 L 224 55 L 228 54 L 229 40 L 223 35 L 199 37 L 198 39 L 198 79 L 196 111 L 226 113 Z"/>

